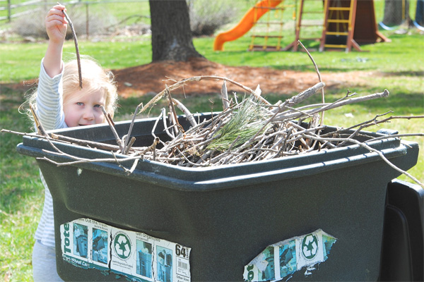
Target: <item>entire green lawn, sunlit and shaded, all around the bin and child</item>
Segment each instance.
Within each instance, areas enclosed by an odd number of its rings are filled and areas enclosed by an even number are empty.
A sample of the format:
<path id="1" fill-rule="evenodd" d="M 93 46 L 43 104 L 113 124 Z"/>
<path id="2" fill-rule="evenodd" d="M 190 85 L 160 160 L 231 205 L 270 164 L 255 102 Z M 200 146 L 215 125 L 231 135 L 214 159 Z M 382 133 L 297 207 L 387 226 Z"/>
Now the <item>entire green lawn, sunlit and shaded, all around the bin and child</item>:
<path id="1" fill-rule="evenodd" d="M 379 2 L 379 1 L 376 1 Z M 379 3 L 380 5 L 381 3 Z M 131 9 L 139 8 L 134 4 Z M 143 8 L 143 7 L 140 7 Z M 125 13 L 118 8 L 115 13 Z M 376 8 L 377 10 L 377 8 Z M 378 18 L 378 16 L 377 16 Z M 394 115 L 424 114 L 424 36 L 411 30 L 411 34 L 396 35 L 384 31 L 390 43 L 369 44 L 362 48 L 365 52 L 312 52 L 314 60 L 322 73 L 339 73 L 348 71 L 372 71 L 383 73 L 376 77 L 366 78 L 360 84 L 352 83 L 349 90 L 358 94 L 370 94 L 390 91 L 387 99 L 343 106 L 326 113 L 325 123 L 329 125 L 349 126 L 360 121 L 373 118 L 389 110 Z M 293 41 L 285 38 L 284 44 Z M 81 54 L 93 56 L 102 66 L 110 69 L 127 68 L 150 63 L 151 45 L 149 37 L 139 37 L 137 40 L 123 42 L 88 42 L 80 40 Z M 213 37 L 194 39 L 196 49 L 210 61 L 228 66 L 258 66 L 281 70 L 296 70 L 314 72 L 309 57 L 304 52 L 248 52 L 249 36 L 234 42 L 225 43 L 225 51 L 212 50 Z M 307 44 L 308 49 L 316 47 Z M 0 82 L 21 82 L 37 78 L 40 59 L 45 53 L 46 42 L 40 43 L 3 43 L 0 44 Z M 73 42 L 66 42 L 65 56 L 74 52 Z M 252 78 L 254 80 L 254 78 Z M 326 90 L 326 101 L 331 102 L 343 97 L 347 89 L 335 87 Z M 266 99 L 276 102 L 287 99 L 294 93 L 285 95 L 266 94 Z M 137 104 L 148 102 L 151 97 L 121 99 L 116 120 L 126 120 L 131 117 Z M 30 123 L 18 113 L 18 106 L 24 101 L 24 93 L 13 91 L 4 85 L 0 88 L 0 128 L 21 132 L 30 132 Z M 318 102 L 319 97 L 313 97 L 308 103 Z M 216 94 L 187 97 L 182 102 L 192 112 L 219 111 L 220 100 Z M 164 106 L 159 102 L 151 111 L 156 116 Z M 352 117 L 353 116 L 353 117 Z M 379 128 L 392 128 L 400 133 L 423 132 L 423 121 L 395 120 L 380 125 Z M 379 128 L 369 128 L 375 131 Z M 420 158 L 418 164 L 409 172 L 424 182 L 424 137 L 408 137 L 405 140 L 418 142 Z M 22 138 L 16 135 L 0 134 L 0 280 L 32 281 L 31 252 L 33 235 L 40 219 L 44 190 L 38 176 L 38 167 L 33 158 L 23 157 L 16 153 L 15 147 Z M 405 176 L 402 180 L 408 180 Z M 409 180 L 408 180 L 409 181 Z"/>

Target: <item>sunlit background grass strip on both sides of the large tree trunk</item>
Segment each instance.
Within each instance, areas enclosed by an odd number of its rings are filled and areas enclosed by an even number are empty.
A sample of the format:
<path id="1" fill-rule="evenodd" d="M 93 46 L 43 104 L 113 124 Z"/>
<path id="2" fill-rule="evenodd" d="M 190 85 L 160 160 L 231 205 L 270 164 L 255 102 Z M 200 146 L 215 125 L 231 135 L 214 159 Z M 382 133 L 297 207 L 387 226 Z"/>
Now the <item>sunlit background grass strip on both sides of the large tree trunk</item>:
<path id="1" fill-rule="evenodd" d="M 420 77 L 424 73 L 424 37 L 414 32 L 411 35 L 387 33 L 389 43 L 364 45 L 364 52 L 312 52 L 321 72 L 381 71 L 391 78 L 397 76 Z M 289 44 L 291 41 L 287 41 Z M 151 61 L 149 37 L 131 42 L 80 42 L 81 54 L 93 56 L 102 66 L 110 69 L 128 68 Z M 19 51 L 17 51 L 19 46 Z M 210 61 L 228 66 L 255 66 L 293 71 L 314 71 L 308 56 L 303 52 L 246 51 L 249 38 L 242 37 L 226 42 L 225 51 L 213 51 L 213 37 L 194 39 L 194 46 Z M 0 82 L 20 82 L 37 78 L 40 58 L 44 56 L 47 43 L 1 44 Z M 64 56 L 75 53 L 73 42 L 66 42 Z M 389 55 L 388 55 L 389 54 Z"/>

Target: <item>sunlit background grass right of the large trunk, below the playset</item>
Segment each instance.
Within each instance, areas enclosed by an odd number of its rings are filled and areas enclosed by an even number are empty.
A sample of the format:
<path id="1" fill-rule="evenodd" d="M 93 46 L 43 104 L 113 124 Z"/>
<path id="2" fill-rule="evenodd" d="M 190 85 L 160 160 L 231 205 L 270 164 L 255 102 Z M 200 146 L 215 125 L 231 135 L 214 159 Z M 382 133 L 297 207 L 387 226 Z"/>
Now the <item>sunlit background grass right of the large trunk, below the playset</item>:
<path id="1" fill-rule="evenodd" d="M 424 72 L 424 37 L 414 32 L 411 35 L 396 35 L 384 32 L 391 42 L 363 45 L 363 52 L 317 52 L 312 51 L 319 71 L 383 71 L 389 73 L 419 74 Z M 266 66 L 295 71 L 314 71 L 308 56 L 303 52 L 264 52 L 246 51 L 249 37 L 242 37 L 224 44 L 225 51 L 213 51 L 214 38 L 197 39 L 194 45 L 211 61 L 229 66 Z M 282 46 L 293 42 L 294 36 L 284 40 Z M 317 43 L 305 44 L 305 47 L 317 47 Z M 388 55 L 389 54 L 389 55 Z"/>

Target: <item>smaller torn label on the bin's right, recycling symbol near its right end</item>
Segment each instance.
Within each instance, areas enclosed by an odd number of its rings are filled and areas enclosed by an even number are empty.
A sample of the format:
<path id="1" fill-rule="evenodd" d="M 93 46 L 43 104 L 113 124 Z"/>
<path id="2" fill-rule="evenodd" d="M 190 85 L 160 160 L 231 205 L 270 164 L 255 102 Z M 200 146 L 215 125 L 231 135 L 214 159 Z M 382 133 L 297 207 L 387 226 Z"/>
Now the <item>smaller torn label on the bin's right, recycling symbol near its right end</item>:
<path id="1" fill-rule="evenodd" d="M 306 267 L 305 276 L 312 274 L 314 264 L 325 262 L 336 238 L 321 229 L 269 245 L 247 266 L 245 281 L 278 281 L 290 278 Z"/>

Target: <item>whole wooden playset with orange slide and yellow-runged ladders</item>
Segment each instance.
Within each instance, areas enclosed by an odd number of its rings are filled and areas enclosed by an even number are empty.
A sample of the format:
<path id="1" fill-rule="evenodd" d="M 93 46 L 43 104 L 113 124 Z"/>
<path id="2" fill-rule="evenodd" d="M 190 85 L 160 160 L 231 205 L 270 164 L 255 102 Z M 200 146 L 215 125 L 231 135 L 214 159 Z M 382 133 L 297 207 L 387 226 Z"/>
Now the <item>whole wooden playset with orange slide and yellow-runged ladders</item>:
<path id="1" fill-rule="evenodd" d="M 259 23 L 258 20 L 261 16 L 264 16 L 268 11 L 278 9 L 277 6 L 283 4 L 283 2 L 277 0 L 259 1 L 247 11 L 242 20 L 240 20 L 240 23 L 231 30 L 218 34 L 213 44 L 213 50 L 222 51 L 225 42 L 245 35 L 254 25 Z M 300 37 L 301 28 L 310 25 L 308 23 L 302 23 L 303 15 L 305 13 L 317 13 L 317 11 L 305 11 L 305 3 L 307 3 L 307 0 L 300 0 L 300 11 L 296 15 L 295 40 L 291 44 L 281 48 L 281 35 L 252 35 L 252 44 L 250 44 L 249 50 L 287 51 L 293 48 L 293 51 L 297 51 L 298 40 L 302 39 Z M 319 41 L 319 51 L 324 51 L 325 49 L 345 49 L 346 51 L 351 51 L 352 47 L 357 51 L 362 51 L 359 46 L 360 43 L 371 44 L 390 41 L 378 31 L 373 0 L 323 0 L 323 4 L 324 24 L 322 35 L 317 38 L 306 38 Z M 283 10 L 285 8 L 283 6 L 279 9 Z M 318 11 L 318 13 L 321 12 Z M 357 15 L 360 16 L 359 20 L 356 20 Z M 276 23 L 282 28 L 282 20 Z M 269 24 L 269 22 L 266 24 Z M 313 26 L 317 25 L 314 24 Z M 278 44 L 274 47 L 267 46 L 267 44 L 263 46 L 254 45 L 253 40 L 255 37 L 264 37 L 265 39 L 277 37 Z"/>

